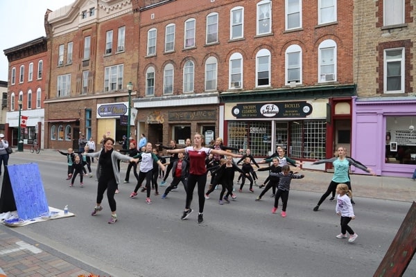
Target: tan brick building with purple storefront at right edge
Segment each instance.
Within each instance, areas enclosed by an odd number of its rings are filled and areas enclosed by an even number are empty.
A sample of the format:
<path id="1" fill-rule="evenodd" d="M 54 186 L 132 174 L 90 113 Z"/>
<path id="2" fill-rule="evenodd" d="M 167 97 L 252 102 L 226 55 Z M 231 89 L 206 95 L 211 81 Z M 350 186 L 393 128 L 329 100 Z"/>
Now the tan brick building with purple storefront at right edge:
<path id="1" fill-rule="evenodd" d="M 378 175 L 416 164 L 415 1 L 354 1 L 352 155 Z"/>

